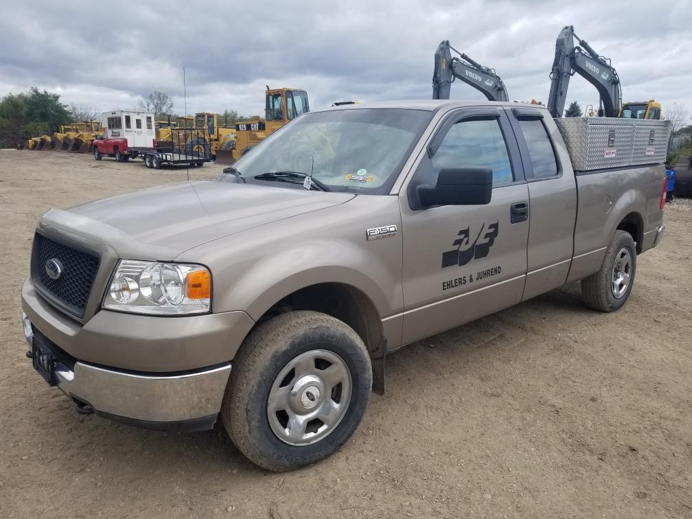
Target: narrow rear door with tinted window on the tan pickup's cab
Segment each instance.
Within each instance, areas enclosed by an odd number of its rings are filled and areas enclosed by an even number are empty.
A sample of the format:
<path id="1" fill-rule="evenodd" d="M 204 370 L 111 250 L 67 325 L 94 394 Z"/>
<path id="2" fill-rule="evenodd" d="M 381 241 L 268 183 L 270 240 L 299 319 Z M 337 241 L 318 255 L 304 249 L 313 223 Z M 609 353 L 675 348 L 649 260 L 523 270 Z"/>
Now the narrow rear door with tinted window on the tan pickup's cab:
<path id="1" fill-rule="evenodd" d="M 531 221 L 522 300 L 565 284 L 574 250 L 576 179 L 556 158 L 558 129 L 545 109 L 506 109 L 521 150 Z M 553 134 L 551 134 L 551 131 Z M 565 154 L 563 154 L 565 155 Z"/>

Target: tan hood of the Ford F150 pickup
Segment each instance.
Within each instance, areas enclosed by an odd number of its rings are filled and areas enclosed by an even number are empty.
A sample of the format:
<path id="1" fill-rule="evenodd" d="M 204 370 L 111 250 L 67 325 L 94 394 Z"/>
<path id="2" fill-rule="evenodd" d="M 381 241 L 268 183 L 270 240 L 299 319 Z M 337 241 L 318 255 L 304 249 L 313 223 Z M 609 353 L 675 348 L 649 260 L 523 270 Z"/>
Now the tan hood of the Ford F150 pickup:
<path id="1" fill-rule="evenodd" d="M 172 260 L 194 246 L 242 230 L 345 203 L 355 195 L 198 181 L 51 209 L 39 227 L 78 237 L 118 257 Z"/>

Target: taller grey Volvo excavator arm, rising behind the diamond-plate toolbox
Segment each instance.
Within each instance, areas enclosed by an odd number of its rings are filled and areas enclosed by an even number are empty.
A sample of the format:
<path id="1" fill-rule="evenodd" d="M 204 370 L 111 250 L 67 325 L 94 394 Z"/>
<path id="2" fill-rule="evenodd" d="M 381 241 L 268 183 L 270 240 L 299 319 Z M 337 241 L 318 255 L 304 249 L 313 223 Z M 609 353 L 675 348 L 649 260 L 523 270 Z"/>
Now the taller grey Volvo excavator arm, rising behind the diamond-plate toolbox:
<path id="1" fill-rule="evenodd" d="M 579 46 L 574 46 L 575 39 Z M 574 26 L 566 26 L 555 43 L 555 59 L 550 73 L 547 109 L 553 117 L 563 116 L 567 87 L 570 86 L 570 78 L 574 73 L 581 75 L 597 89 L 603 104 L 603 115 L 617 117 L 622 102 L 617 71 L 605 57 L 574 34 Z"/>

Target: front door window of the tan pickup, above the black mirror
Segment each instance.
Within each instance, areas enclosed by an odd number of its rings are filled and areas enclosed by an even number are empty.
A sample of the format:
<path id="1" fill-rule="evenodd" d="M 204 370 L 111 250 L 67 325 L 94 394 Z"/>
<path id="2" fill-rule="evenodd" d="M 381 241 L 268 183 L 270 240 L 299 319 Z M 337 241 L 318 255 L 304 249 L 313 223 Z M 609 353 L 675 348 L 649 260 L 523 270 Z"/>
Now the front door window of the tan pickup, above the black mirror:
<path id="1" fill-rule="evenodd" d="M 500 123 L 493 119 L 462 120 L 453 125 L 432 156 L 435 181 L 446 167 L 490 167 L 493 186 L 514 181 Z"/>

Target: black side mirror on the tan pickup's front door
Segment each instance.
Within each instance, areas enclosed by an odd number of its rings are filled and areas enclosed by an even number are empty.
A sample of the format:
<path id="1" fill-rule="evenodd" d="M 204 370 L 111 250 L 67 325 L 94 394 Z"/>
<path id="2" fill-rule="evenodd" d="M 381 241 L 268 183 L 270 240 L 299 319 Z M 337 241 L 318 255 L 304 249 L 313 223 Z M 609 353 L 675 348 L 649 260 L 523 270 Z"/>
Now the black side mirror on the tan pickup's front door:
<path id="1" fill-rule="evenodd" d="M 485 206 L 493 194 L 493 170 L 489 167 L 449 167 L 440 170 L 437 185 L 417 189 L 421 207 Z"/>

